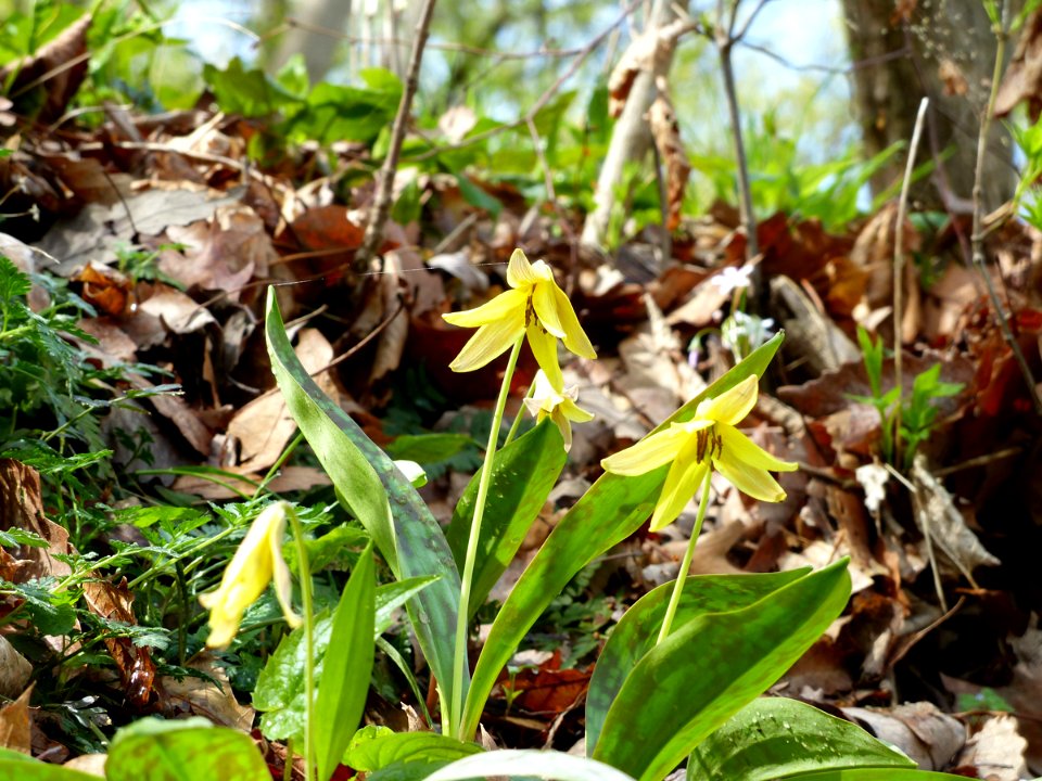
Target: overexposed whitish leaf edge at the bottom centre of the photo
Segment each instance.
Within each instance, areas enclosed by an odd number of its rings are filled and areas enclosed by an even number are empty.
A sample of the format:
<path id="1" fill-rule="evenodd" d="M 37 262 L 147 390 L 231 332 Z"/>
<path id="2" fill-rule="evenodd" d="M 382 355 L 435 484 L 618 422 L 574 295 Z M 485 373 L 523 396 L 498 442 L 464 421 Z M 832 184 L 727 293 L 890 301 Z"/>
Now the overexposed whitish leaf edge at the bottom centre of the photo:
<path id="1" fill-rule="evenodd" d="M 491 776 L 557 779 L 558 781 L 633 781 L 630 776 L 594 759 L 555 751 L 496 751 L 458 759 L 427 781 L 463 781 Z"/>

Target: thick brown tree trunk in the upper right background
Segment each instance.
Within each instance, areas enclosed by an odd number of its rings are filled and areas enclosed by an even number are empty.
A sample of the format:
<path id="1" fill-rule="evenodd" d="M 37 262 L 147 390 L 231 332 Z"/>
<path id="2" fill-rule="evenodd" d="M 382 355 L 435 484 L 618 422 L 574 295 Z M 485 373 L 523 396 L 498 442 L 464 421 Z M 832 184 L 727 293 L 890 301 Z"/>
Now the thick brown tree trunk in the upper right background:
<path id="1" fill-rule="evenodd" d="M 1019 2 L 1014 1 L 1015 5 Z M 915 114 L 930 99 L 926 154 L 936 170 L 912 190 L 917 207 L 970 210 L 980 115 L 988 102 L 996 42 L 980 0 L 919 0 L 907 18 L 897 0 L 843 0 L 854 98 L 865 150 L 875 155 L 912 137 Z M 1008 133 L 988 139 L 983 203 L 993 209 L 1016 187 Z M 872 179 L 875 194 L 900 182 L 904 154 Z"/>

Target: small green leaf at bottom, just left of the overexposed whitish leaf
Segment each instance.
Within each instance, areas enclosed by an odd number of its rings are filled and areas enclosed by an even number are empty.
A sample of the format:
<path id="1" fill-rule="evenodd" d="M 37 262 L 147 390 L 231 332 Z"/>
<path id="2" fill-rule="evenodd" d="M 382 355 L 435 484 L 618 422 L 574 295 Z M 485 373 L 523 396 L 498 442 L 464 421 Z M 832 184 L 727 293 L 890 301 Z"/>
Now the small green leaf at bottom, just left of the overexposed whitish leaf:
<path id="1" fill-rule="evenodd" d="M 481 746 L 435 732 L 396 732 L 379 735 L 352 747 L 344 763 L 364 770 L 368 779 L 423 779 L 431 772 L 471 754 Z"/>

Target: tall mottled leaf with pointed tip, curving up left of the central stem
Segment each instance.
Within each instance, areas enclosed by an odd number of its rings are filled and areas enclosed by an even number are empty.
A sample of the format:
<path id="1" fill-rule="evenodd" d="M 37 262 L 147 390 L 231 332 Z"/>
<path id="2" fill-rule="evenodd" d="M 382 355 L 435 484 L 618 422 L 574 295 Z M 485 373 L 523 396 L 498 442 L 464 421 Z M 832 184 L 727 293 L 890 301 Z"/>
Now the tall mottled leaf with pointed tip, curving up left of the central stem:
<path id="1" fill-rule="evenodd" d="M 408 612 L 439 682 L 444 709 L 453 702 L 453 652 L 459 605 L 459 573 L 445 535 L 394 462 L 301 366 L 285 335 L 274 287 L 268 289 L 265 333 L 271 369 L 290 413 L 333 482 L 338 496 L 372 536 L 394 576 L 399 580 L 440 576 L 409 602 Z M 467 686 L 465 679 L 463 687 Z"/>

